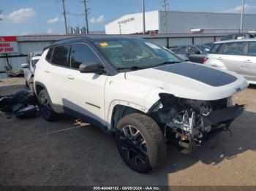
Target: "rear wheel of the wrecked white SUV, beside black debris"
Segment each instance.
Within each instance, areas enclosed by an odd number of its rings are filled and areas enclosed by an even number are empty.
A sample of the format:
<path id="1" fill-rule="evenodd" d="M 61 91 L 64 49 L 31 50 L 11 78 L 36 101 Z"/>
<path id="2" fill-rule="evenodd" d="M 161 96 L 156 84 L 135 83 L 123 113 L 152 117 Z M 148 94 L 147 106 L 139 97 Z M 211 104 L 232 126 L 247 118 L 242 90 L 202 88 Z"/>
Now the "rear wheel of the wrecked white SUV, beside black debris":
<path id="1" fill-rule="evenodd" d="M 42 117 L 46 121 L 56 120 L 56 112 L 53 111 L 52 103 L 50 101 L 50 96 L 46 90 L 41 90 L 38 95 L 39 109 Z"/>

